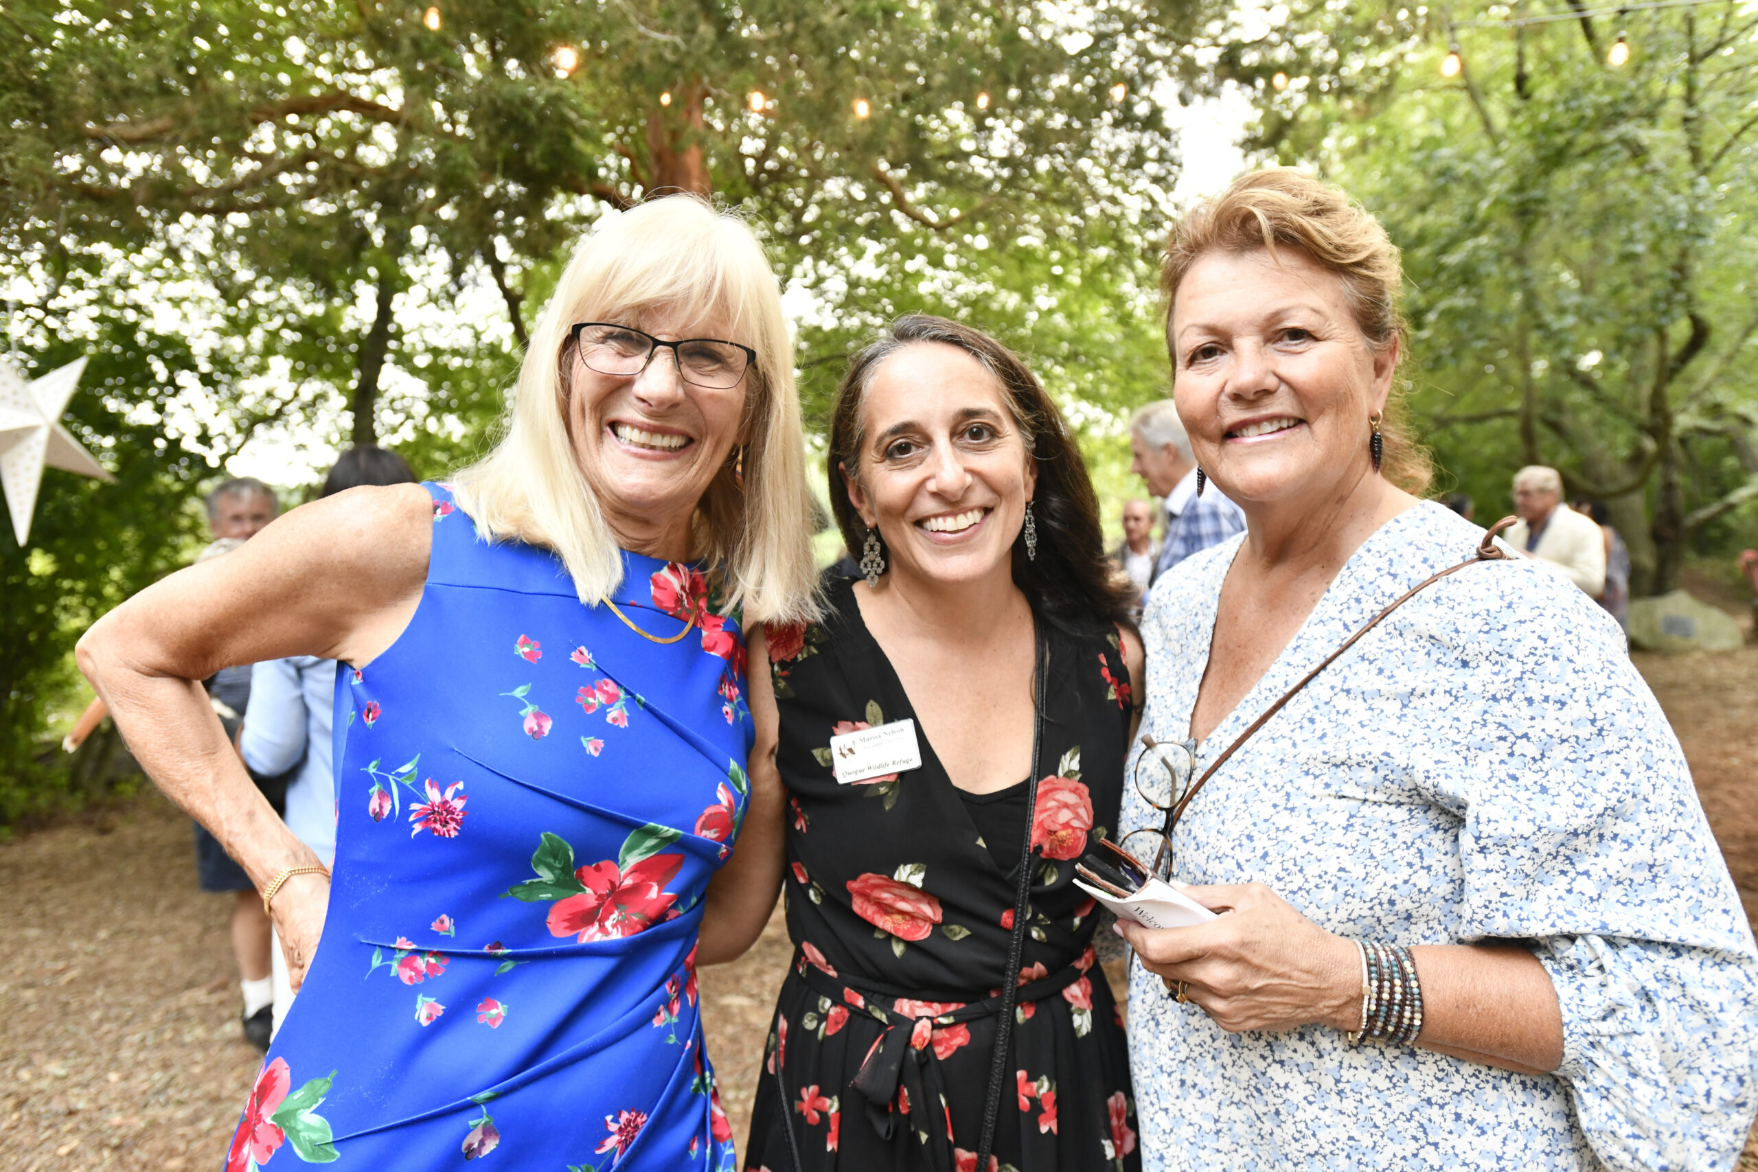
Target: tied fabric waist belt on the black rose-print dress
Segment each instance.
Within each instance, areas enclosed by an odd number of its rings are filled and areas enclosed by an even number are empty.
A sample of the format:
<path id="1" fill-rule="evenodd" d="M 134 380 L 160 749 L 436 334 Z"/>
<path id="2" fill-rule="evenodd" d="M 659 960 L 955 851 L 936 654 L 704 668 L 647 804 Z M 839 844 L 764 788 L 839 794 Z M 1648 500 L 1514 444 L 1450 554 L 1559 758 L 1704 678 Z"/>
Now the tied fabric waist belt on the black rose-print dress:
<path id="1" fill-rule="evenodd" d="M 981 1002 L 965 1002 L 935 1017 L 916 1017 L 912 1014 L 900 1014 L 893 1007 L 895 1000 L 909 998 L 865 993 L 832 977 L 809 961 L 803 952 L 795 952 L 793 970 L 819 996 L 826 996 L 837 1005 L 847 1005 L 853 1012 L 865 1012 L 884 1026 L 879 1040 L 867 1051 L 861 1068 L 849 1082 L 849 1089 L 867 1100 L 867 1119 L 874 1125 L 879 1139 L 891 1139 L 897 1119 L 893 1107 L 900 1107 L 925 1144 L 926 1137 L 935 1137 L 937 1142 L 928 1144 L 928 1161 L 933 1170 L 953 1172 L 951 1116 L 946 1109 L 935 1111 L 935 1107 L 941 1107 L 941 1100 L 944 1100 L 944 1082 L 941 1079 L 939 1054 L 930 1042 L 935 1026 L 960 1026 L 977 1017 L 993 1017 L 999 1014 L 1002 1009 L 1000 993 L 986 996 Z M 1058 968 L 1048 977 L 1039 977 L 1020 986 L 1014 1005 L 1041 1002 L 1046 996 L 1062 993 L 1085 973 L 1086 970 L 1078 963 Z M 914 1056 L 914 1061 L 905 1063 L 904 1060 L 911 1056 Z M 904 1089 L 905 1096 L 902 1102 L 898 1102 L 898 1088 Z M 793 1103 L 782 1105 L 782 1111 L 791 1109 Z"/>

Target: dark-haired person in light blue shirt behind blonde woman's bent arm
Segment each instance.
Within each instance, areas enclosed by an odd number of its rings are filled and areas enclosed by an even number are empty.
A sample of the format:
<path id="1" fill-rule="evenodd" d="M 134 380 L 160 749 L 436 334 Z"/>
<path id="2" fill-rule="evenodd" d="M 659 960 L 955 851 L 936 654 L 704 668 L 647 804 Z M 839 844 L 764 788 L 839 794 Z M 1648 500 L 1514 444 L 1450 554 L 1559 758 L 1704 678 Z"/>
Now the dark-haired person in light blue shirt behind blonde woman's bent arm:
<path id="1" fill-rule="evenodd" d="M 323 478 L 320 497 L 360 485 L 413 485 L 415 473 L 396 452 L 374 445 L 348 448 Z M 278 777 L 299 770 L 287 785 L 287 828 L 323 866 L 336 861 L 336 777 L 331 768 L 336 661 L 316 655 L 269 659 L 251 668 L 250 708 L 239 752 L 251 773 Z M 276 938 L 269 949 L 274 977 L 274 1030 L 281 1028 L 294 989 Z"/>

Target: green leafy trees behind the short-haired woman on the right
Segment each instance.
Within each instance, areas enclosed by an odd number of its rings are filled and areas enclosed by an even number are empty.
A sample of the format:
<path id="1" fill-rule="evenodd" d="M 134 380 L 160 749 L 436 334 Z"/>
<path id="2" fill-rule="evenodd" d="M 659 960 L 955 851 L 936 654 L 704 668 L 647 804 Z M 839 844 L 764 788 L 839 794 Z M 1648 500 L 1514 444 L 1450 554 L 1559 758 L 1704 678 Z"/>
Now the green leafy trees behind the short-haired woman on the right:
<path id="1" fill-rule="evenodd" d="M 1482 511 L 1554 464 L 1610 504 L 1635 590 L 1665 590 L 1758 499 L 1758 18 L 1558 14 L 1306 5 L 1250 46 L 1217 30 L 1206 77 L 1252 84 L 1257 146 L 1403 248 L 1419 423 Z"/>

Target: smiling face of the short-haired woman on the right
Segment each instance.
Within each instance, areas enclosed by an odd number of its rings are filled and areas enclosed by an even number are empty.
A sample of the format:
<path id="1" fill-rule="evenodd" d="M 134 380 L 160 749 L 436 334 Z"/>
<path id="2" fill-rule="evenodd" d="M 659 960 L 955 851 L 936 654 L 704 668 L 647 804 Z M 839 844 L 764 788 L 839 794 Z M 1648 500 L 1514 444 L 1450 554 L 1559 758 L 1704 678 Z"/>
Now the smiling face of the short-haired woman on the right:
<path id="1" fill-rule="evenodd" d="M 1336 497 L 1371 467 L 1398 346 L 1375 351 L 1343 281 L 1297 248 L 1201 257 L 1169 343 L 1197 464 L 1239 504 Z"/>

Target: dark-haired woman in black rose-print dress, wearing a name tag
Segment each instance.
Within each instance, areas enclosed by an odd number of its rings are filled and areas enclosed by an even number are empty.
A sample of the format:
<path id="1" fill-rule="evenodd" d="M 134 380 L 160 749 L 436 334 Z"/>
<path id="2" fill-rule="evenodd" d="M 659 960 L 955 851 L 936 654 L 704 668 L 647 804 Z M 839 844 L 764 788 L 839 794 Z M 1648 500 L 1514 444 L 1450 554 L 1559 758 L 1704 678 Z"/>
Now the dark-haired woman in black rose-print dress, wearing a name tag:
<path id="1" fill-rule="evenodd" d="M 976 1172 L 1025 866 L 990 1167 L 1136 1168 L 1099 915 L 1071 880 L 1116 828 L 1141 650 L 1079 452 L 1006 348 L 904 318 L 844 380 L 832 497 L 867 580 L 828 575 L 823 622 L 752 641 L 796 952 L 745 1167 Z M 918 768 L 832 766 L 832 736 L 905 720 Z"/>

